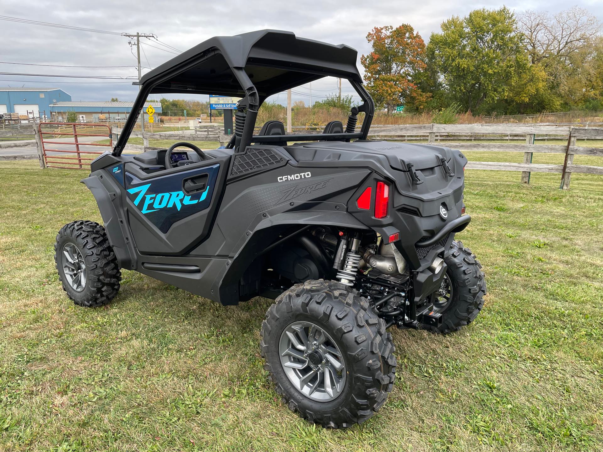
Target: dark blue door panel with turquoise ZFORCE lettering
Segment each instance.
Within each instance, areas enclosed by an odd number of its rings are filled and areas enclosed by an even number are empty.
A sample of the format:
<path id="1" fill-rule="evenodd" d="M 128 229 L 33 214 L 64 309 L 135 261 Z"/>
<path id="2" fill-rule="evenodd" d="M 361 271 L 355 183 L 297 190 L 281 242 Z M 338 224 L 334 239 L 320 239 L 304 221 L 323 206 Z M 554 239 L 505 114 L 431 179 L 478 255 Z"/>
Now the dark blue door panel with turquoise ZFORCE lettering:
<path id="1" fill-rule="evenodd" d="M 128 209 L 137 209 L 147 221 L 167 233 L 175 222 L 209 208 L 218 171 L 216 164 L 140 180 L 126 168 L 125 189 L 131 201 Z M 191 178 L 206 180 L 207 185 L 185 192 L 184 183 Z"/>

